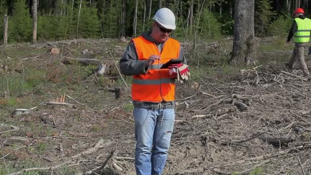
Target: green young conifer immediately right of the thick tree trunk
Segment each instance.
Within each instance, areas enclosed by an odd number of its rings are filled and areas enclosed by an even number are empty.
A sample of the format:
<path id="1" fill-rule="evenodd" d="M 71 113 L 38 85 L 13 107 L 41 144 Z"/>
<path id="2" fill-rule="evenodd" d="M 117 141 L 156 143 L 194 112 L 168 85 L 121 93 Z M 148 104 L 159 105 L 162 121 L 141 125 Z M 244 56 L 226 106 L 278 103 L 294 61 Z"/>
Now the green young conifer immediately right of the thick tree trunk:
<path id="1" fill-rule="evenodd" d="M 256 3 L 258 11 L 255 12 L 255 31 L 263 34 L 268 29 L 270 21 L 276 15 L 276 12 L 272 11 L 271 0 L 260 0 Z"/>

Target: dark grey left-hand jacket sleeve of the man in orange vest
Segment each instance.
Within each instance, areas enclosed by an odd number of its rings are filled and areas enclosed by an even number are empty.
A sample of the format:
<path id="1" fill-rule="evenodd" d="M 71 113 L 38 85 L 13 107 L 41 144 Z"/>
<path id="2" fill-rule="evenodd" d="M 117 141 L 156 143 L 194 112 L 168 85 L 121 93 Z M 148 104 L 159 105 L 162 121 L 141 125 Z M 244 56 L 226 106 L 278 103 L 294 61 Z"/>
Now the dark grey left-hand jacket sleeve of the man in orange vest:
<path id="1" fill-rule="evenodd" d="M 145 74 L 148 67 L 145 66 L 145 61 L 138 60 L 134 42 L 130 42 L 119 62 L 120 71 L 124 75 Z"/>

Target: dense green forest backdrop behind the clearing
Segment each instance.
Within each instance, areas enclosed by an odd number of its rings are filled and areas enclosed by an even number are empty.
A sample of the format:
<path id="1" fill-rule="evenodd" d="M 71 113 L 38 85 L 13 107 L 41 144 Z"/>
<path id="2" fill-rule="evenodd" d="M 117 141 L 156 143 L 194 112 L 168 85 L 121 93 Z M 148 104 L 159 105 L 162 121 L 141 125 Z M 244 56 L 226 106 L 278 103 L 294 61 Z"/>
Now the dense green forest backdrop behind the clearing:
<path id="1" fill-rule="evenodd" d="M 170 8 L 176 16 L 178 39 L 217 39 L 233 35 L 233 0 L 38 0 L 40 40 L 133 37 L 148 30 L 154 13 Z M 0 0 L 0 15 L 9 16 L 8 41 L 32 40 L 32 0 Z M 287 35 L 298 7 L 311 12 L 311 1 L 256 0 L 257 37 Z M 0 20 L 3 28 L 4 20 Z M 0 30 L 3 40 L 3 30 Z"/>

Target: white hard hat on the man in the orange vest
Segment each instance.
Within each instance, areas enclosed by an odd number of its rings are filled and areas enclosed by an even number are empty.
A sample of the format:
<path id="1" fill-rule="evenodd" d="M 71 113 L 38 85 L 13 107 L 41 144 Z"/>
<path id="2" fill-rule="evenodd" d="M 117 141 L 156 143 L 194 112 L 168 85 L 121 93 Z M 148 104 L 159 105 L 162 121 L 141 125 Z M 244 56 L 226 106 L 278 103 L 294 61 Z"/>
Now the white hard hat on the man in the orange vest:
<path id="1" fill-rule="evenodd" d="M 175 15 L 168 8 L 159 9 L 152 19 L 156 20 L 165 29 L 176 29 Z"/>

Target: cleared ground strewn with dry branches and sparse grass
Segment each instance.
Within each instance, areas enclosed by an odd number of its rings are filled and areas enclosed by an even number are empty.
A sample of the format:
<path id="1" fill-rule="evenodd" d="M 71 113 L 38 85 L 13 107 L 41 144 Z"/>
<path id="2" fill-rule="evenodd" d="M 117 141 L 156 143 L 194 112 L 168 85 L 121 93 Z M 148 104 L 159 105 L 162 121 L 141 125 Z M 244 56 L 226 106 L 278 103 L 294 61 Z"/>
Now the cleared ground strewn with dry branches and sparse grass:
<path id="1" fill-rule="evenodd" d="M 311 82 L 279 61 L 290 50 L 258 50 L 264 61 L 255 68 L 220 65 L 229 42 L 198 46 L 192 79 L 177 83 L 164 174 L 311 174 Z M 125 46 L 101 39 L 0 48 L 0 174 L 135 174 L 133 107 L 118 71 L 100 76 L 94 66 L 60 63 L 61 55 L 117 62 Z M 187 56 L 190 46 L 183 43 Z M 61 96 L 72 105 L 47 103 Z M 13 115 L 16 108 L 33 109 Z"/>

